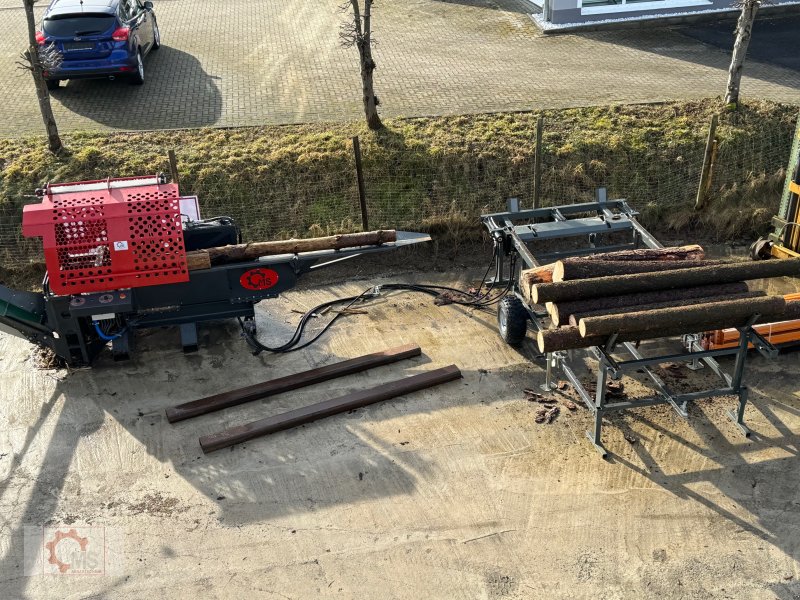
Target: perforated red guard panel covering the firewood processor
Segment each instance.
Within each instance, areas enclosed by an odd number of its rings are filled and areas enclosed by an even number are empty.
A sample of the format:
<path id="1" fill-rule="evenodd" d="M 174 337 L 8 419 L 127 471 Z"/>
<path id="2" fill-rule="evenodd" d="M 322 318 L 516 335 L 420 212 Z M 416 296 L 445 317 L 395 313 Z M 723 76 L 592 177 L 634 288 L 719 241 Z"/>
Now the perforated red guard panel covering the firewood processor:
<path id="1" fill-rule="evenodd" d="M 136 180 L 58 184 L 59 193 L 24 208 L 22 231 L 41 237 L 50 289 L 102 292 L 189 280 L 175 184 Z M 120 182 L 120 183 L 117 183 Z M 71 191 L 82 185 L 105 189 Z"/>

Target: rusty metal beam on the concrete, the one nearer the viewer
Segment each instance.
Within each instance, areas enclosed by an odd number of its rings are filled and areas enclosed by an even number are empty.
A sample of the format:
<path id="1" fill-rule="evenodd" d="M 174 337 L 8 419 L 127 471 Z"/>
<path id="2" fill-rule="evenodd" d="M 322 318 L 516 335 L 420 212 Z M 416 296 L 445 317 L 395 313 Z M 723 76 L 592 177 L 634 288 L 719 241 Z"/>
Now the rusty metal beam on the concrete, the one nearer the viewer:
<path id="1" fill-rule="evenodd" d="M 280 415 L 267 417 L 259 421 L 239 425 L 238 427 L 231 427 L 219 433 L 212 433 L 211 435 L 204 435 L 200 438 L 200 447 L 203 452 L 208 454 L 215 450 L 227 448 L 234 444 L 246 442 L 253 438 L 282 431 L 284 429 L 291 429 L 298 425 L 310 423 L 317 419 L 330 417 L 339 413 L 347 412 L 380 402 L 381 400 L 388 400 L 404 394 L 410 394 L 425 388 L 454 381 L 461 377 L 461 371 L 455 365 L 442 367 L 427 373 L 420 373 L 419 375 L 412 375 L 397 381 L 390 381 L 377 387 L 360 390 L 353 392 L 339 398 L 326 400 L 311 406 L 304 406 L 295 410 L 290 410 Z"/>

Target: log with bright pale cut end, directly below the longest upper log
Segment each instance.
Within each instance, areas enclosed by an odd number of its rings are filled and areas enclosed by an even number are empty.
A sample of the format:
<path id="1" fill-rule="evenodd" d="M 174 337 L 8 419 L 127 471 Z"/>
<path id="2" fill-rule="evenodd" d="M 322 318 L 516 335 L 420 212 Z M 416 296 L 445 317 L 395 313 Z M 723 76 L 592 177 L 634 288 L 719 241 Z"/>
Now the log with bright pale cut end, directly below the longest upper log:
<path id="1" fill-rule="evenodd" d="M 656 304 L 658 302 L 672 302 L 675 300 L 689 300 L 693 298 L 711 298 L 726 294 L 744 294 L 748 291 L 747 284 L 724 283 L 721 285 L 701 285 L 680 290 L 662 290 L 658 292 L 644 292 L 641 294 L 625 294 L 623 296 L 607 296 L 592 300 L 573 300 L 571 302 L 547 303 L 547 312 L 553 325 L 558 327 L 567 323 L 570 315 L 588 311 L 624 308 L 626 306 L 639 306 L 643 304 Z"/>

